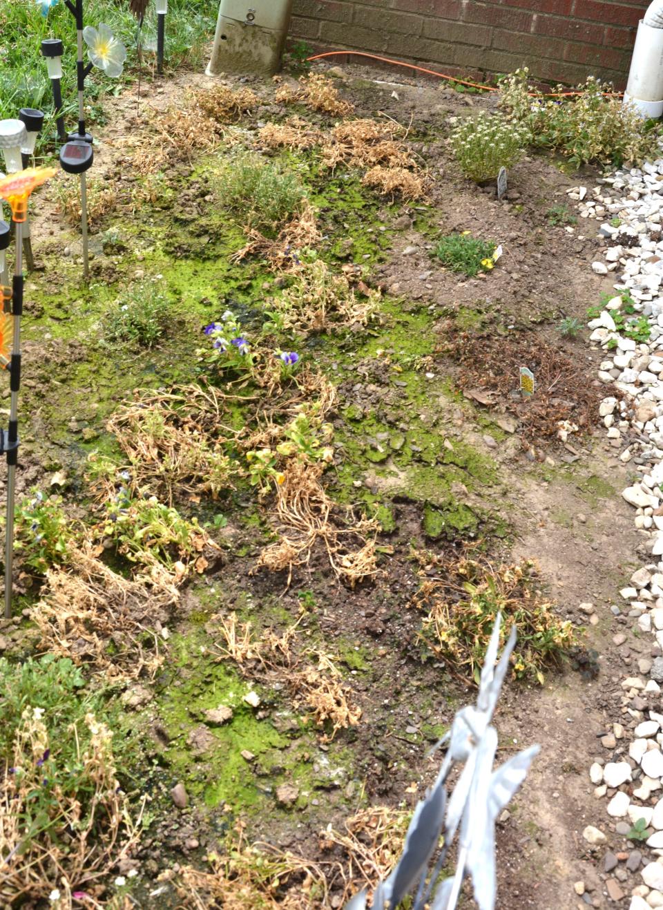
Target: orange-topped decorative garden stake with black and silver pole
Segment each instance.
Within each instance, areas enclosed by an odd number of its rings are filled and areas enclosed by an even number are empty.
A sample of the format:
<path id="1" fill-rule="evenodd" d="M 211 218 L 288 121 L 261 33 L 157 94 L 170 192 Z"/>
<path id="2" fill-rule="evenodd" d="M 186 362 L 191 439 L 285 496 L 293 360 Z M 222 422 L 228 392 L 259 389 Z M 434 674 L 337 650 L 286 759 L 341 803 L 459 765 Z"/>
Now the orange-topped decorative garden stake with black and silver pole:
<path id="1" fill-rule="evenodd" d="M 7 456 L 7 521 L 5 527 L 5 618 L 12 614 L 14 570 L 14 509 L 18 461 L 18 390 L 21 387 L 21 315 L 23 313 L 23 226 L 30 194 L 55 175 L 54 167 L 28 167 L 0 179 L 0 199 L 12 209 L 15 224 L 15 267 L 12 288 L 2 288 L 0 366 L 9 370 L 9 429 L 0 430 L 0 454 Z M 11 315 L 7 305 L 11 302 Z"/>

